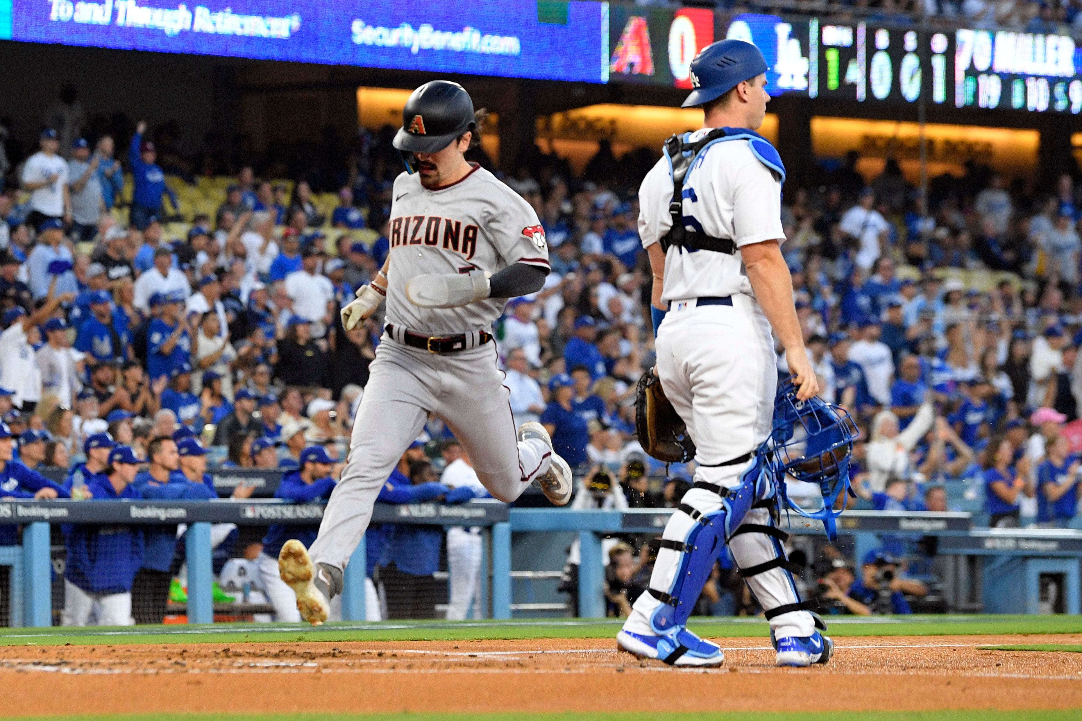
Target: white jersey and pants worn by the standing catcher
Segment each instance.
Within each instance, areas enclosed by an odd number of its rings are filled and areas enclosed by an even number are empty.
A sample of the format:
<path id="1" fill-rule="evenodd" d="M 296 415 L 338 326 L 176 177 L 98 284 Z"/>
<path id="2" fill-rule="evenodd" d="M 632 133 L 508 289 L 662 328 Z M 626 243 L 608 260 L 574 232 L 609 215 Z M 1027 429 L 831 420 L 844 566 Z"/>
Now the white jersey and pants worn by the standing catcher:
<path id="1" fill-rule="evenodd" d="M 710 130 L 691 133 L 686 146 Z M 765 141 L 756 143 L 773 152 Z M 769 436 L 777 386 L 770 324 L 744 275 L 739 249 L 784 240 L 781 176 L 760 159 L 747 137 L 723 138 L 707 145 L 691 162 L 682 195 L 687 230 L 730 240 L 738 250 L 728 254 L 669 246 L 661 295 L 669 311 L 658 331 L 657 374 L 695 441 L 695 481 L 736 489 L 742 483 L 741 475 L 755 464 L 749 454 Z M 673 179 L 667 157 L 646 175 L 638 198 L 638 232 L 643 246 L 649 248 L 672 226 Z M 716 491 L 698 485 L 685 494 L 683 503 L 701 516 L 674 513 L 665 539 L 687 538 L 697 518 L 716 513 L 724 505 Z M 753 507 L 742 523 L 763 526 L 771 521 L 766 508 Z M 778 538 L 765 533 L 726 535 L 740 569 L 775 561 L 782 552 Z M 672 587 L 681 558 L 677 550 L 659 549 L 651 590 Z M 747 583 L 764 611 L 800 602 L 791 577 L 781 568 L 749 575 Z M 624 629 L 655 632 L 649 619 L 660 604 L 651 592 L 639 596 Z M 778 638 L 807 637 L 815 631 L 806 611 L 777 614 L 770 626 Z"/>

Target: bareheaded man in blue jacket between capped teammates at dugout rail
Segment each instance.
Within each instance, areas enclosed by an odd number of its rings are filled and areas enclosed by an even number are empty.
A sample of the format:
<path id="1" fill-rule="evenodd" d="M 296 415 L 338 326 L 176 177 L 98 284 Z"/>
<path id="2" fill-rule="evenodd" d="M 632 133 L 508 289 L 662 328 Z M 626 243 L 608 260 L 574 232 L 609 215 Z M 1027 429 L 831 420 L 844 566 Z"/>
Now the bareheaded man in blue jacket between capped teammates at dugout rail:
<path id="1" fill-rule="evenodd" d="M 176 441 L 155 437 L 146 448 L 148 467 L 133 481 L 142 497 L 160 500 L 209 500 L 216 497 L 202 483 L 192 483 L 181 472 Z M 147 526 L 146 550 L 132 585 L 132 605 L 136 624 L 160 624 L 166 616 L 170 569 L 176 551 L 176 525 Z"/>

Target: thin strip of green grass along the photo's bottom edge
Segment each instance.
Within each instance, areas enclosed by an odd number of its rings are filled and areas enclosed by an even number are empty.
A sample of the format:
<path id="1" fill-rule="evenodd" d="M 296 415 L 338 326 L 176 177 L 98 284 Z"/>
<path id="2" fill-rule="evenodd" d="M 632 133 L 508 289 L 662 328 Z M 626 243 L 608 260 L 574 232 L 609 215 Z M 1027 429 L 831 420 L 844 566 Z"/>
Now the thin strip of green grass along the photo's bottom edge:
<path id="1" fill-rule="evenodd" d="M 1082 709 L 1069 710 L 944 710 L 708 713 L 138 713 L 121 716 L 49 716 L 35 721 L 1074 721 Z"/>

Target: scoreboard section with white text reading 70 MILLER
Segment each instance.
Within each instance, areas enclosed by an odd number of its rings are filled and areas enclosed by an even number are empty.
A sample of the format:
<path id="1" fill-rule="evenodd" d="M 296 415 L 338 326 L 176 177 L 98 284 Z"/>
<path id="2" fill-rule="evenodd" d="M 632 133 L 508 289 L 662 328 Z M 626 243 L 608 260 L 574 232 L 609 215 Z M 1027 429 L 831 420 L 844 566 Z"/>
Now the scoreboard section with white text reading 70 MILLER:
<path id="1" fill-rule="evenodd" d="M 1068 36 L 960 29 L 954 105 L 1082 112 L 1074 40 Z"/>

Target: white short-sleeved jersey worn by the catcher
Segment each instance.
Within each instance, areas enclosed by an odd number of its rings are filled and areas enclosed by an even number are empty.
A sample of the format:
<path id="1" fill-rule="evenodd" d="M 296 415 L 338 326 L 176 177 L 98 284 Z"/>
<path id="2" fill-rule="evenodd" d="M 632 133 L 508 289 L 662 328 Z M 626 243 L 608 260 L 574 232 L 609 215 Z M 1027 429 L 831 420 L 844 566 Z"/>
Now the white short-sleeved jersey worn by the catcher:
<path id="1" fill-rule="evenodd" d="M 695 131 L 688 142 L 695 143 L 711 130 Z M 683 195 L 684 226 L 689 230 L 727 238 L 737 248 L 786 239 L 781 229 L 781 183 L 755 157 L 745 139 L 707 146 L 684 177 Z M 643 248 L 658 242 L 672 227 L 669 214 L 672 197 L 669 160 L 662 157 L 638 189 L 638 235 Z M 682 248 L 669 248 L 662 301 L 734 293 L 753 295 L 739 253 L 689 253 Z"/>

